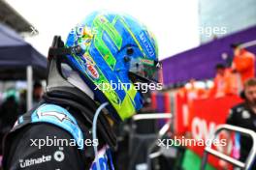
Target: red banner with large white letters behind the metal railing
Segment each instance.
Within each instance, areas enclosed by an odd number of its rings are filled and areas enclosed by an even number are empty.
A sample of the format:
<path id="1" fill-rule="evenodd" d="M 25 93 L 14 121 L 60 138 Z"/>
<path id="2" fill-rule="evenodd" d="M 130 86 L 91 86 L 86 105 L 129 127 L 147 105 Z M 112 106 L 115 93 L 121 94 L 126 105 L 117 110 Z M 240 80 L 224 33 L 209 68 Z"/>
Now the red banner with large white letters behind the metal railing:
<path id="1" fill-rule="evenodd" d="M 191 120 L 189 131 L 194 139 L 206 139 L 220 124 L 225 124 L 229 109 L 238 104 L 241 99 L 238 96 L 227 96 L 219 99 L 195 99 L 190 107 Z M 203 146 L 188 147 L 203 156 Z M 209 163 L 218 167 L 219 159 L 215 156 L 208 157 Z"/>

